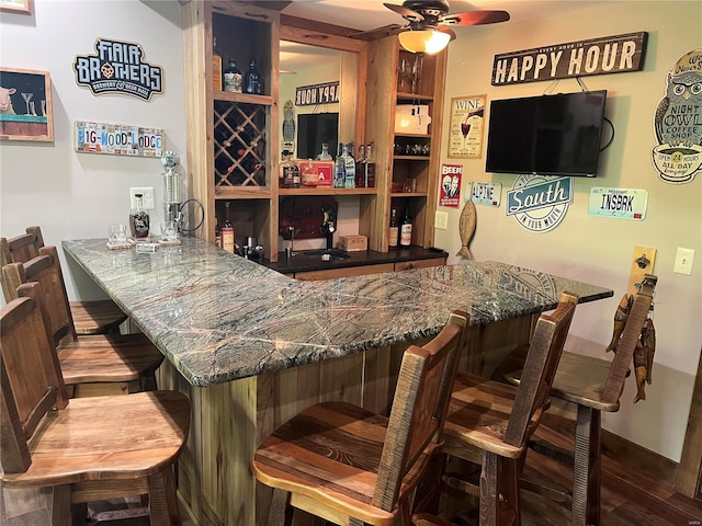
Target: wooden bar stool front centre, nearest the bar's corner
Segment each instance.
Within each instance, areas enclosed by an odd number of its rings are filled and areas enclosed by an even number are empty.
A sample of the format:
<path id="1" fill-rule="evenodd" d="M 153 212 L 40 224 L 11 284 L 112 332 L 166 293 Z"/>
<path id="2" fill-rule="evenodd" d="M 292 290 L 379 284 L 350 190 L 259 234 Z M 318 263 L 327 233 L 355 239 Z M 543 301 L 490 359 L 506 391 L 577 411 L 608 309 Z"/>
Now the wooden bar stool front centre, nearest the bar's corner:
<path id="1" fill-rule="evenodd" d="M 263 441 L 253 473 L 274 490 L 269 525 L 291 524 L 294 508 L 335 524 L 409 525 L 414 490 L 439 448 L 467 322 L 454 311 L 432 341 L 405 351 L 389 418 L 319 403 Z"/>

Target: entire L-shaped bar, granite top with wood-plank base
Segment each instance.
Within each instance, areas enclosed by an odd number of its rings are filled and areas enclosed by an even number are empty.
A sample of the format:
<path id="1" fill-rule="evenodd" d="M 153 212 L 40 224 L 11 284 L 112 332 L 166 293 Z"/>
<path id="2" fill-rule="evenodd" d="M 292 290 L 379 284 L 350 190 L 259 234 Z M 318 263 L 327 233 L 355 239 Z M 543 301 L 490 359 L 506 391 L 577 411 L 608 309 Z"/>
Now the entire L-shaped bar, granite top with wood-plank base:
<path id="1" fill-rule="evenodd" d="M 263 526 L 271 492 L 251 472 L 261 441 L 325 400 L 387 414 L 404 350 L 452 309 L 471 313 L 458 367 L 480 373 L 529 341 L 562 291 L 613 294 L 495 262 L 306 282 L 195 238 L 152 254 L 104 239 L 63 247 L 166 355 L 159 388 L 192 402 L 178 492 L 199 526 Z"/>

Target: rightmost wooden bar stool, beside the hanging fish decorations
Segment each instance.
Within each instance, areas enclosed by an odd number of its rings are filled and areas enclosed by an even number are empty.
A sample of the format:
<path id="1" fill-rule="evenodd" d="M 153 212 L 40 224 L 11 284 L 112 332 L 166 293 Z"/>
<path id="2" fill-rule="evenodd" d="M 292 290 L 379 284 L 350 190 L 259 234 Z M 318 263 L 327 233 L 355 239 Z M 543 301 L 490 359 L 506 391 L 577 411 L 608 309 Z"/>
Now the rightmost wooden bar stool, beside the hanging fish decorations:
<path id="1" fill-rule="evenodd" d="M 566 351 L 558 365 L 551 395 L 577 405 L 573 493 L 569 495 L 574 526 L 600 524 L 602 411 L 619 411 L 624 381 L 630 375 L 634 353 L 641 347 L 642 329 L 652 308 L 657 282 L 654 275 L 644 276 L 629 307 L 611 361 Z M 506 376 L 511 381 L 519 381 L 522 373 L 516 370 Z M 530 480 L 522 481 L 522 485 L 544 492 Z M 548 490 L 545 489 L 546 494 L 551 493 Z"/>

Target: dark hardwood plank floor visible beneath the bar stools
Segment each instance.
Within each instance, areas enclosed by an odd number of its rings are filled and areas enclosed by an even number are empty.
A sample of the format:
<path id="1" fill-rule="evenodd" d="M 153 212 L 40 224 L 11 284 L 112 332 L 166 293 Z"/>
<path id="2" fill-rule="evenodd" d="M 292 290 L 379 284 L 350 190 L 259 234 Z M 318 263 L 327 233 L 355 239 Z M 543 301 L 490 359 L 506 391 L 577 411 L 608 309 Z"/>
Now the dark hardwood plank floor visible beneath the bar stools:
<path id="1" fill-rule="evenodd" d="M 558 418 L 554 418 L 554 422 Z M 568 448 L 573 442 L 571 425 L 546 422 L 544 433 L 537 431 L 537 441 L 553 438 L 558 428 L 558 445 Z M 602 458 L 602 522 L 601 526 L 702 526 L 702 501 L 688 499 L 673 491 L 667 482 L 654 480 L 633 462 L 623 462 L 604 454 Z M 546 481 L 552 488 L 567 492 L 573 470 L 565 459 L 556 459 L 534 450 L 526 458 L 524 476 L 534 481 Z M 567 526 L 570 524 L 570 503 L 522 490 L 523 526 Z M 99 510 L 99 506 L 93 506 Z M 0 525 L 52 526 L 50 491 L 4 490 L 0 498 Z M 468 514 L 469 516 L 469 514 Z M 193 526 L 181 514 L 183 526 Z M 89 523 L 98 525 L 102 523 Z M 115 526 L 146 526 L 144 521 L 111 522 Z M 474 524 L 456 519 L 458 525 Z M 249 525 L 227 525 L 249 526 Z"/>

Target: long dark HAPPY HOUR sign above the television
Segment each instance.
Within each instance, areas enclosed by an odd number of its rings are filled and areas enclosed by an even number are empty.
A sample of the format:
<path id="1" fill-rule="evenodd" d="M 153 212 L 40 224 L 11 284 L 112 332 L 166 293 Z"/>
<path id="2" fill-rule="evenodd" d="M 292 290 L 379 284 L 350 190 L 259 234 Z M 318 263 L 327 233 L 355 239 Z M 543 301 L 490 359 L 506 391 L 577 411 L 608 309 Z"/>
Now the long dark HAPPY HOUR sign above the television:
<path id="1" fill-rule="evenodd" d="M 639 71 L 648 33 L 627 33 L 495 55 L 492 85 Z"/>

